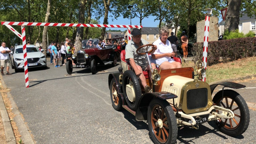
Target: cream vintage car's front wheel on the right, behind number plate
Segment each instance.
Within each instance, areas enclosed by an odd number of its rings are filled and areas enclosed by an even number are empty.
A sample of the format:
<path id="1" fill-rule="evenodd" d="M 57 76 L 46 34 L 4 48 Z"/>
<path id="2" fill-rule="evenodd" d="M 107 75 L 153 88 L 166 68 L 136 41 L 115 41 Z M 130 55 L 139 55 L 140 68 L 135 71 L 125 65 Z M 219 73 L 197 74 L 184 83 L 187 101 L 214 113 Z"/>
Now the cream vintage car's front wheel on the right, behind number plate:
<path id="1" fill-rule="evenodd" d="M 221 132 L 230 136 L 236 136 L 246 131 L 250 123 L 250 113 L 246 101 L 240 94 L 233 90 L 224 90 L 222 99 L 222 91 L 219 91 L 215 94 L 213 103 L 216 103 L 217 106 L 230 109 L 235 114 L 235 117 L 232 119 L 222 118 L 215 120 Z"/>

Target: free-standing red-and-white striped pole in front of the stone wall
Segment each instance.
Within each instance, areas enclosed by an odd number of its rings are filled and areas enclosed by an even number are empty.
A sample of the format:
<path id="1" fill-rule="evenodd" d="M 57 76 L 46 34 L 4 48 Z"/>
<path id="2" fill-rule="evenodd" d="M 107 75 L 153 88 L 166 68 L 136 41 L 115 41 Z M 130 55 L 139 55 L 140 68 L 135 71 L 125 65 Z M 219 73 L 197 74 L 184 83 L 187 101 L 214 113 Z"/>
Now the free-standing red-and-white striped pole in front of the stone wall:
<path id="1" fill-rule="evenodd" d="M 212 15 L 212 9 L 206 9 L 206 10 L 207 10 L 207 13 L 205 16 L 205 37 L 204 37 L 204 41 L 203 41 L 203 63 L 204 63 L 205 69 L 206 69 L 206 64 L 207 64 L 210 15 Z M 206 80 L 206 75 L 203 76 L 202 81 L 205 82 L 205 80 Z"/>

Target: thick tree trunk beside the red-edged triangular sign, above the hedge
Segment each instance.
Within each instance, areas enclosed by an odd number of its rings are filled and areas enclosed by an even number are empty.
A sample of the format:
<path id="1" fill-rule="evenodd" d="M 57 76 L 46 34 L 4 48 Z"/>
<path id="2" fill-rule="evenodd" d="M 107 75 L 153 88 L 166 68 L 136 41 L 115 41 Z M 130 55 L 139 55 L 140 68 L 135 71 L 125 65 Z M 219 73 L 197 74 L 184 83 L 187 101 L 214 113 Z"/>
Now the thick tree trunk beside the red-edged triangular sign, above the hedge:
<path id="1" fill-rule="evenodd" d="M 234 31 L 238 29 L 241 0 L 230 0 L 225 19 L 225 30 Z"/>

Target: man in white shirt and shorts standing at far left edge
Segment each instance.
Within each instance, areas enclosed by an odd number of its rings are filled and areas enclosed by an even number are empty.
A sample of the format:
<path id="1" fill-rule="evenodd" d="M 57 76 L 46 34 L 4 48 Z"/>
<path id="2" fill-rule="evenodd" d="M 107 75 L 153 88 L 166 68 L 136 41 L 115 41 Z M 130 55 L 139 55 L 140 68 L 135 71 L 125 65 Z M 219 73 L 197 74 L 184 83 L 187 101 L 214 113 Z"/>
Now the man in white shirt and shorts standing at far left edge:
<path id="1" fill-rule="evenodd" d="M 11 52 L 11 50 L 6 47 L 6 43 L 1 43 L 1 47 L 0 47 L 0 57 L 1 57 L 1 75 L 4 75 L 4 67 L 6 65 L 6 75 L 12 75 L 12 73 L 9 73 L 9 68 L 10 68 L 10 57 L 9 57 L 9 53 Z"/>

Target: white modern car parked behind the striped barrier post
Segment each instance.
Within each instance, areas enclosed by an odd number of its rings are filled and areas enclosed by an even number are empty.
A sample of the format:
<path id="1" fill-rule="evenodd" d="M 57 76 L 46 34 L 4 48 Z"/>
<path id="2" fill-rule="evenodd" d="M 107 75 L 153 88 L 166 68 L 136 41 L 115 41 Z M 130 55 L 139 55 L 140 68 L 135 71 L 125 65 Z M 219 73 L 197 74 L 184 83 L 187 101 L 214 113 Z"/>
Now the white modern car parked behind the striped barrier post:
<path id="1" fill-rule="evenodd" d="M 46 56 L 35 45 L 29 44 L 26 45 L 27 61 L 28 68 L 47 68 Z M 19 72 L 24 69 L 24 55 L 23 55 L 23 46 L 15 46 L 13 51 L 10 53 L 10 60 L 12 69 L 15 72 Z"/>

